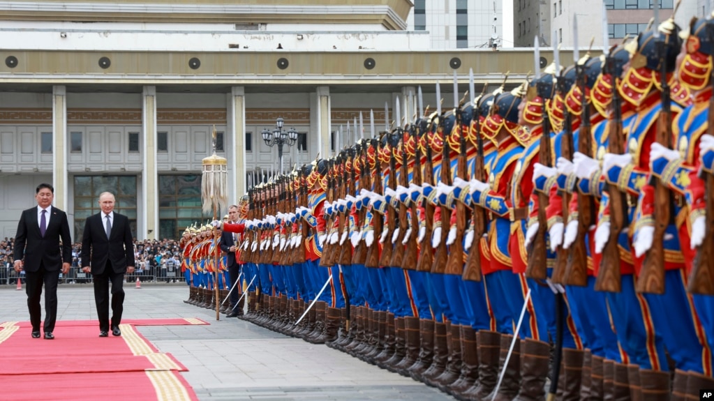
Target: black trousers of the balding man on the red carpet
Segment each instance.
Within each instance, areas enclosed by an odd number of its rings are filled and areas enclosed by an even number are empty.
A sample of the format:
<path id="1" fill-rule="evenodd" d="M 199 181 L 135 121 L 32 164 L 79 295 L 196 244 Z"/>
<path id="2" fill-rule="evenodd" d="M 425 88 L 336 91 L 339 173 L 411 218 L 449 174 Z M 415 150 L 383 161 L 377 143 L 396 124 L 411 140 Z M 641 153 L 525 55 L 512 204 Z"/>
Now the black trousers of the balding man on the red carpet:
<path id="1" fill-rule="evenodd" d="M 116 273 L 107 261 L 104 271 L 94 277 L 94 302 L 99 316 L 99 330 L 109 331 L 109 283 L 111 282 L 111 327 L 119 326 L 124 312 L 124 273 Z"/>

